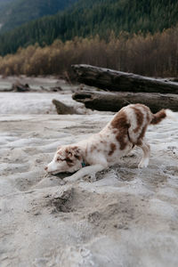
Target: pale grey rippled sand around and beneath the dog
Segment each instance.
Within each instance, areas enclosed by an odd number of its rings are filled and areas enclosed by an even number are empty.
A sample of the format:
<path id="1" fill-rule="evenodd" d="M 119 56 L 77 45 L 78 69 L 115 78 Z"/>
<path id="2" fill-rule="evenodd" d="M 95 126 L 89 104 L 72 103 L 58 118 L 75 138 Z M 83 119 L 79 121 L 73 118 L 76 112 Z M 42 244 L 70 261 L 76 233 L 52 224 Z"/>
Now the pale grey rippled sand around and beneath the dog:
<path id="1" fill-rule="evenodd" d="M 0 93 L 0 266 L 177 266 L 178 122 L 150 126 L 148 168 L 137 168 L 136 149 L 95 182 L 61 185 L 44 172 L 57 146 L 97 133 L 112 114 L 59 116 L 52 99 Z"/>

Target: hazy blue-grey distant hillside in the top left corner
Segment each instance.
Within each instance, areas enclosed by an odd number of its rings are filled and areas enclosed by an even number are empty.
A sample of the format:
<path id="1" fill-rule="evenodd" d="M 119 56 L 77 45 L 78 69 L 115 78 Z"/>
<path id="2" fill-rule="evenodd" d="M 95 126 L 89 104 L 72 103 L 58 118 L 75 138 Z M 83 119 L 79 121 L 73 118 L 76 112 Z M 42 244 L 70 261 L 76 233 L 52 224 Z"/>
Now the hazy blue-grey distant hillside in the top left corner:
<path id="1" fill-rule="evenodd" d="M 0 0 L 1 32 L 64 10 L 77 0 Z M 2 7 L 2 8 L 1 8 Z"/>

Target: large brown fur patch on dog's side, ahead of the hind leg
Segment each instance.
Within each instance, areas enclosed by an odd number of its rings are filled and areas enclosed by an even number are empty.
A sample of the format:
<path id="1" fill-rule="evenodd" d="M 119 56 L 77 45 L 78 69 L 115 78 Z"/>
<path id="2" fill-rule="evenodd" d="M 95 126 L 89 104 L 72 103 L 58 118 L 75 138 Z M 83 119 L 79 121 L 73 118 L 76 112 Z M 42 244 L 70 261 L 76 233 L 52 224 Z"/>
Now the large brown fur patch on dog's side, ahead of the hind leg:
<path id="1" fill-rule="evenodd" d="M 112 125 L 113 128 L 118 129 L 118 134 L 116 136 L 117 142 L 120 144 L 120 150 L 125 150 L 127 145 L 126 137 L 128 138 L 128 128 L 130 127 L 127 122 L 125 111 L 119 111 L 111 121 L 110 125 Z"/>

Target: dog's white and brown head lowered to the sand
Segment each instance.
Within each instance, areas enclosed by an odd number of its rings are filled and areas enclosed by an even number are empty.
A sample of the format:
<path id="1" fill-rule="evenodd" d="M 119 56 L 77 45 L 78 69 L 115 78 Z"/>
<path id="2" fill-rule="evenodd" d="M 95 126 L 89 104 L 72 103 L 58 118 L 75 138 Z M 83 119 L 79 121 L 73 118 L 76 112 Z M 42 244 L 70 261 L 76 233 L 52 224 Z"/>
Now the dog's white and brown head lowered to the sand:
<path id="1" fill-rule="evenodd" d="M 77 146 L 61 146 L 45 170 L 49 174 L 74 173 L 82 167 L 81 154 Z"/>

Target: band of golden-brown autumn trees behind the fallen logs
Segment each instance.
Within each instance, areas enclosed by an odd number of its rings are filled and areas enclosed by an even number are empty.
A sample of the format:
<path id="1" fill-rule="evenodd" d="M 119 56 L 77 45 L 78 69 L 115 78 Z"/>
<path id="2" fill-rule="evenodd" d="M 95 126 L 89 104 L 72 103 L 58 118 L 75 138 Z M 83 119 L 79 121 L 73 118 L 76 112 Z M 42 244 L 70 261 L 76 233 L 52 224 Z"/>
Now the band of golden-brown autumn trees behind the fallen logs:
<path id="1" fill-rule="evenodd" d="M 85 63 L 145 76 L 177 77 L 177 44 L 178 27 L 146 36 L 122 33 L 116 37 L 111 33 L 108 41 L 100 36 L 56 40 L 50 46 L 29 45 L 0 58 L 0 73 L 70 76 L 71 64 Z"/>

